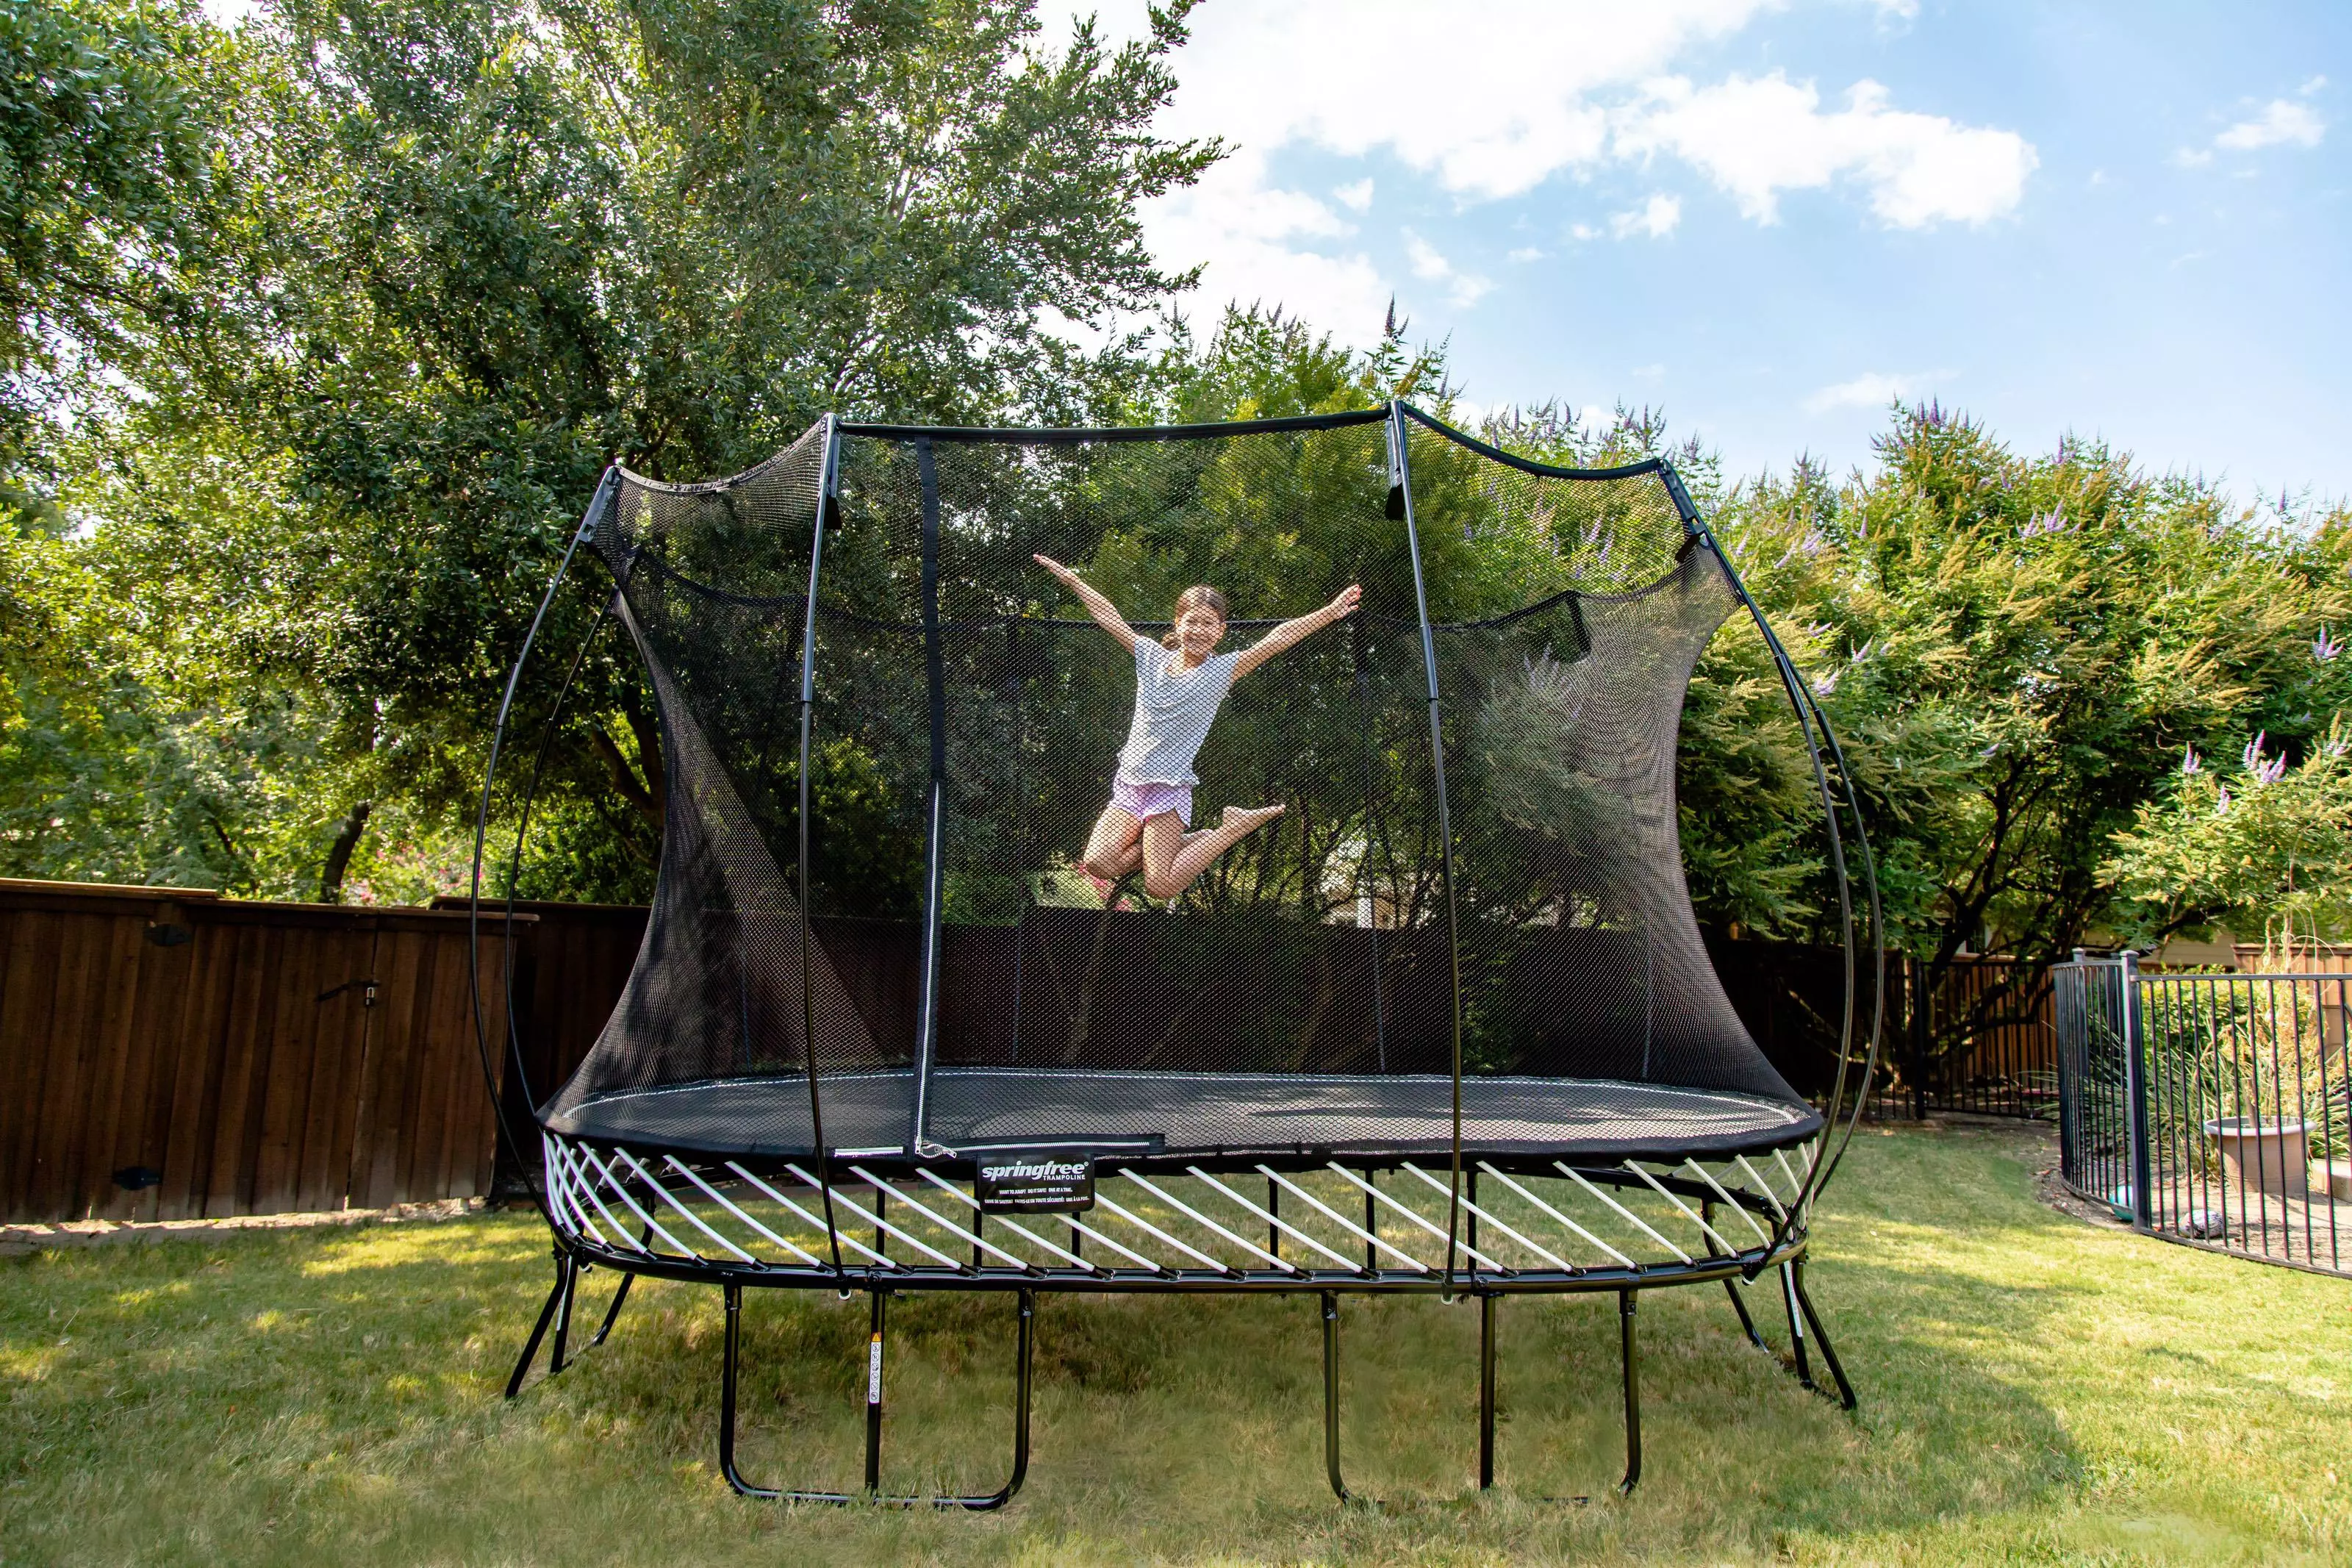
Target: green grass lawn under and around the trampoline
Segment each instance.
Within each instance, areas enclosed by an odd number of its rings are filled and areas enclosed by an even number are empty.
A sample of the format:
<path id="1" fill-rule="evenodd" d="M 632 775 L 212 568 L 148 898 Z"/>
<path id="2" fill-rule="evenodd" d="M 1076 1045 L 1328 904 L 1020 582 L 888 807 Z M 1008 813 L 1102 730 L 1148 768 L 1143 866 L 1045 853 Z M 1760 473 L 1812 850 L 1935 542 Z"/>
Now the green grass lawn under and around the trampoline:
<path id="1" fill-rule="evenodd" d="M 1858 1418 L 1722 1291 L 1646 1295 L 1632 1500 L 1606 1495 L 1613 1298 L 1503 1305 L 1484 1497 L 1477 1309 L 1348 1300 L 1350 1483 L 1378 1509 L 1324 1488 L 1312 1298 L 1042 1298 L 1028 1488 L 941 1516 L 734 1497 L 713 1288 L 640 1284 L 609 1345 L 501 1401 L 548 1279 L 529 1213 L 0 1260 L 0 1563 L 2352 1559 L 2352 1284 L 2058 1215 L 2037 1150 L 1856 1140 L 1809 1281 Z M 854 1486 L 863 1298 L 753 1293 L 746 1319 L 746 1469 Z M 894 1305 L 887 1486 L 1002 1479 L 1009 1326 L 997 1298 Z"/>

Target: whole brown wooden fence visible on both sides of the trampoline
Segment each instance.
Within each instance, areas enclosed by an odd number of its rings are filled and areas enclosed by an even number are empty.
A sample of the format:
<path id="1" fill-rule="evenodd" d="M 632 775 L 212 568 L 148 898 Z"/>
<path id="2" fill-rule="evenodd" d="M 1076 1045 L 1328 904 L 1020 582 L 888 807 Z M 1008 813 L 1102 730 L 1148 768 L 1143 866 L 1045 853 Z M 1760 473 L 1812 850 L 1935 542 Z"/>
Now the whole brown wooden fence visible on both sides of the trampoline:
<path id="1" fill-rule="evenodd" d="M 492 1046 L 503 1070 L 513 952 L 515 1034 L 541 1100 L 595 1044 L 644 917 L 527 903 L 513 943 L 485 919 Z M 536 1147 L 494 1168 L 466 922 L 463 900 L 367 910 L 0 879 L 0 1218 L 216 1218 L 517 1190 Z M 1712 933 L 1708 950 L 1766 1058 L 1799 1093 L 1828 1093 L 1842 957 Z M 1933 987 L 1929 1013 L 1912 1006 L 1924 990 L 1917 964 L 1889 966 L 1879 1114 L 2039 1114 L 2056 1063 L 2042 976 L 1969 959 Z M 501 1093 L 527 1128 L 524 1084 L 501 1072 Z"/>

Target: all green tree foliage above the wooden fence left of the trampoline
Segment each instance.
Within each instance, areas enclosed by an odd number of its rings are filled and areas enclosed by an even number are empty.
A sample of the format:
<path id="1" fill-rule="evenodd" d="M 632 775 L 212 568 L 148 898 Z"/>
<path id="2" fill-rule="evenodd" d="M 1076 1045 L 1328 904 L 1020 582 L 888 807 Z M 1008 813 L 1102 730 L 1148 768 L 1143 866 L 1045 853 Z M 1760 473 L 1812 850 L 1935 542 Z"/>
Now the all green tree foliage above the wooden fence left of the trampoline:
<path id="1" fill-rule="evenodd" d="M 1044 40 L 1025 0 L 285 0 L 235 35 L 9 7 L 54 68 L 7 101 L 0 371 L 49 374 L 71 430 L 47 428 L 47 522 L 0 538 L 0 870 L 332 898 L 329 842 L 367 820 L 350 877 L 445 891 L 501 675 L 607 461 L 729 473 L 826 409 L 1110 409 L 1150 374 L 1136 343 L 1042 322 L 1185 282 L 1136 223 L 1218 155 L 1148 129 L 1185 9 L 1108 49 Z M 85 362 L 111 378 L 61 381 Z M 557 604 L 527 719 L 593 602 Z M 233 802 L 165 811 L 188 790 L 158 757 L 256 724 L 259 693 L 289 729 L 247 783 L 275 795 L 223 776 Z M 604 639 L 541 802 L 574 856 L 539 856 L 534 891 L 642 891 L 649 738 Z M 151 797 L 136 830 L 56 809 L 68 776 Z"/>

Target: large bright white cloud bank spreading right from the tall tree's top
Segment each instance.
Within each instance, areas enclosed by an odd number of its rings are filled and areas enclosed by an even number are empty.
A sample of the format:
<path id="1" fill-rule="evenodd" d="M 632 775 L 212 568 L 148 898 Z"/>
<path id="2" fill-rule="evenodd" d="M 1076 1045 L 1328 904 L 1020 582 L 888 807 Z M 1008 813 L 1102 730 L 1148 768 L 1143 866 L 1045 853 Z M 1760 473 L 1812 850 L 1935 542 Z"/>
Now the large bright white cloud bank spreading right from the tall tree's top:
<path id="1" fill-rule="evenodd" d="M 2016 207 L 2032 148 L 2011 132 L 1971 129 L 1938 115 L 1893 113 L 1884 89 L 1863 85 L 1856 108 L 1818 113 L 1811 87 L 1778 82 L 1802 113 L 1762 101 L 1731 78 L 1684 85 L 1668 103 L 1644 85 L 1691 49 L 1778 12 L 1785 0 L 1484 0 L 1475 26 L 1454 7 L 1425 0 L 1287 0 L 1207 5 L 1188 21 L 1176 52 L 1178 89 L 1160 113 L 1164 136 L 1223 136 L 1235 148 L 1192 190 L 1145 207 L 1145 242 L 1167 266 L 1204 263 L 1202 296 L 1287 303 L 1331 322 L 1348 341 L 1369 341 L 1392 280 L 1336 228 L 1367 212 L 1371 181 L 1315 197 L 1275 186 L 1284 148 L 1336 158 L 1383 155 L 1430 176 L 1458 202 L 1524 195 L 1559 174 L 1611 162 L 1689 158 L 1769 214 L 1778 190 L 1853 176 L 1879 216 L 1898 226 L 1940 219 L 1983 221 Z M 1910 0 L 1882 0 L 1879 14 L 1907 14 Z M 1040 49 L 1058 47 L 1077 16 L 1098 14 L 1105 45 L 1148 33 L 1145 0 L 1044 0 Z M 1745 92 L 1731 101 L 1724 94 Z M 1872 96 L 1875 94 L 1875 96 Z M 1773 118 L 1762 129 L 1743 108 Z M 1783 150 L 1778 165 L 1740 160 L 1740 139 L 1828 143 Z M 1729 143 L 1729 146 L 1726 146 Z M 1795 174 L 1790 158 L 1797 158 Z M 1816 174 L 1825 167 L 1825 174 Z M 1632 233 L 1656 228 L 1665 209 L 1644 209 Z M 1670 226 L 1668 226 L 1670 228 Z M 1588 228 L 1571 230 L 1588 237 Z M 1451 299 L 1470 301 L 1484 280 L 1449 275 Z M 1367 322 L 1362 329 L 1345 322 Z"/>

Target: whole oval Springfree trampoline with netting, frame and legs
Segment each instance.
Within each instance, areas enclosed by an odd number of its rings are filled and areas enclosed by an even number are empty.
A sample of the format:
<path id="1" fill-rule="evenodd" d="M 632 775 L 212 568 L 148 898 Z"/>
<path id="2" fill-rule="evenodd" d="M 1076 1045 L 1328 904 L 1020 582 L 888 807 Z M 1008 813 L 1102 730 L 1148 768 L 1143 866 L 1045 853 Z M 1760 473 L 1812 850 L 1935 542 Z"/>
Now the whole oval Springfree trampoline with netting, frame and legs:
<path id="1" fill-rule="evenodd" d="M 567 583 L 600 609 L 501 780 Z M 1682 698 L 1738 611 L 1806 738 L 1846 943 L 1818 1107 L 1740 1025 L 1682 872 Z M 593 1048 L 520 1081 L 555 1281 L 508 1396 L 541 1345 L 564 1368 L 583 1272 L 621 1274 L 593 1342 L 640 1274 L 713 1284 L 739 1493 L 985 1509 L 1028 1472 L 1040 1298 L 1312 1293 L 1348 1497 L 1341 1300 L 1428 1293 L 1479 1305 L 1491 1486 L 1498 1302 L 1613 1293 L 1630 1490 L 1639 1295 L 1722 1284 L 1762 1347 L 1743 1286 L 1771 1279 L 1799 1380 L 1818 1354 L 1853 1408 L 1804 1258 L 1877 1065 L 1877 884 L 1837 741 L 1668 461 L 1552 468 L 1390 402 L 826 418 L 731 480 L 614 468 L 506 682 L 477 917 L 492 802 L 520 799 L 513 889 L 600 637 L 659 719 L 661 867 Z M 863 1490 L 741 1474 L 760 1288 L 868 1295 Z M 882 1493 L 908 1291 L 1011 1302 L 995 1490 Z"/>

